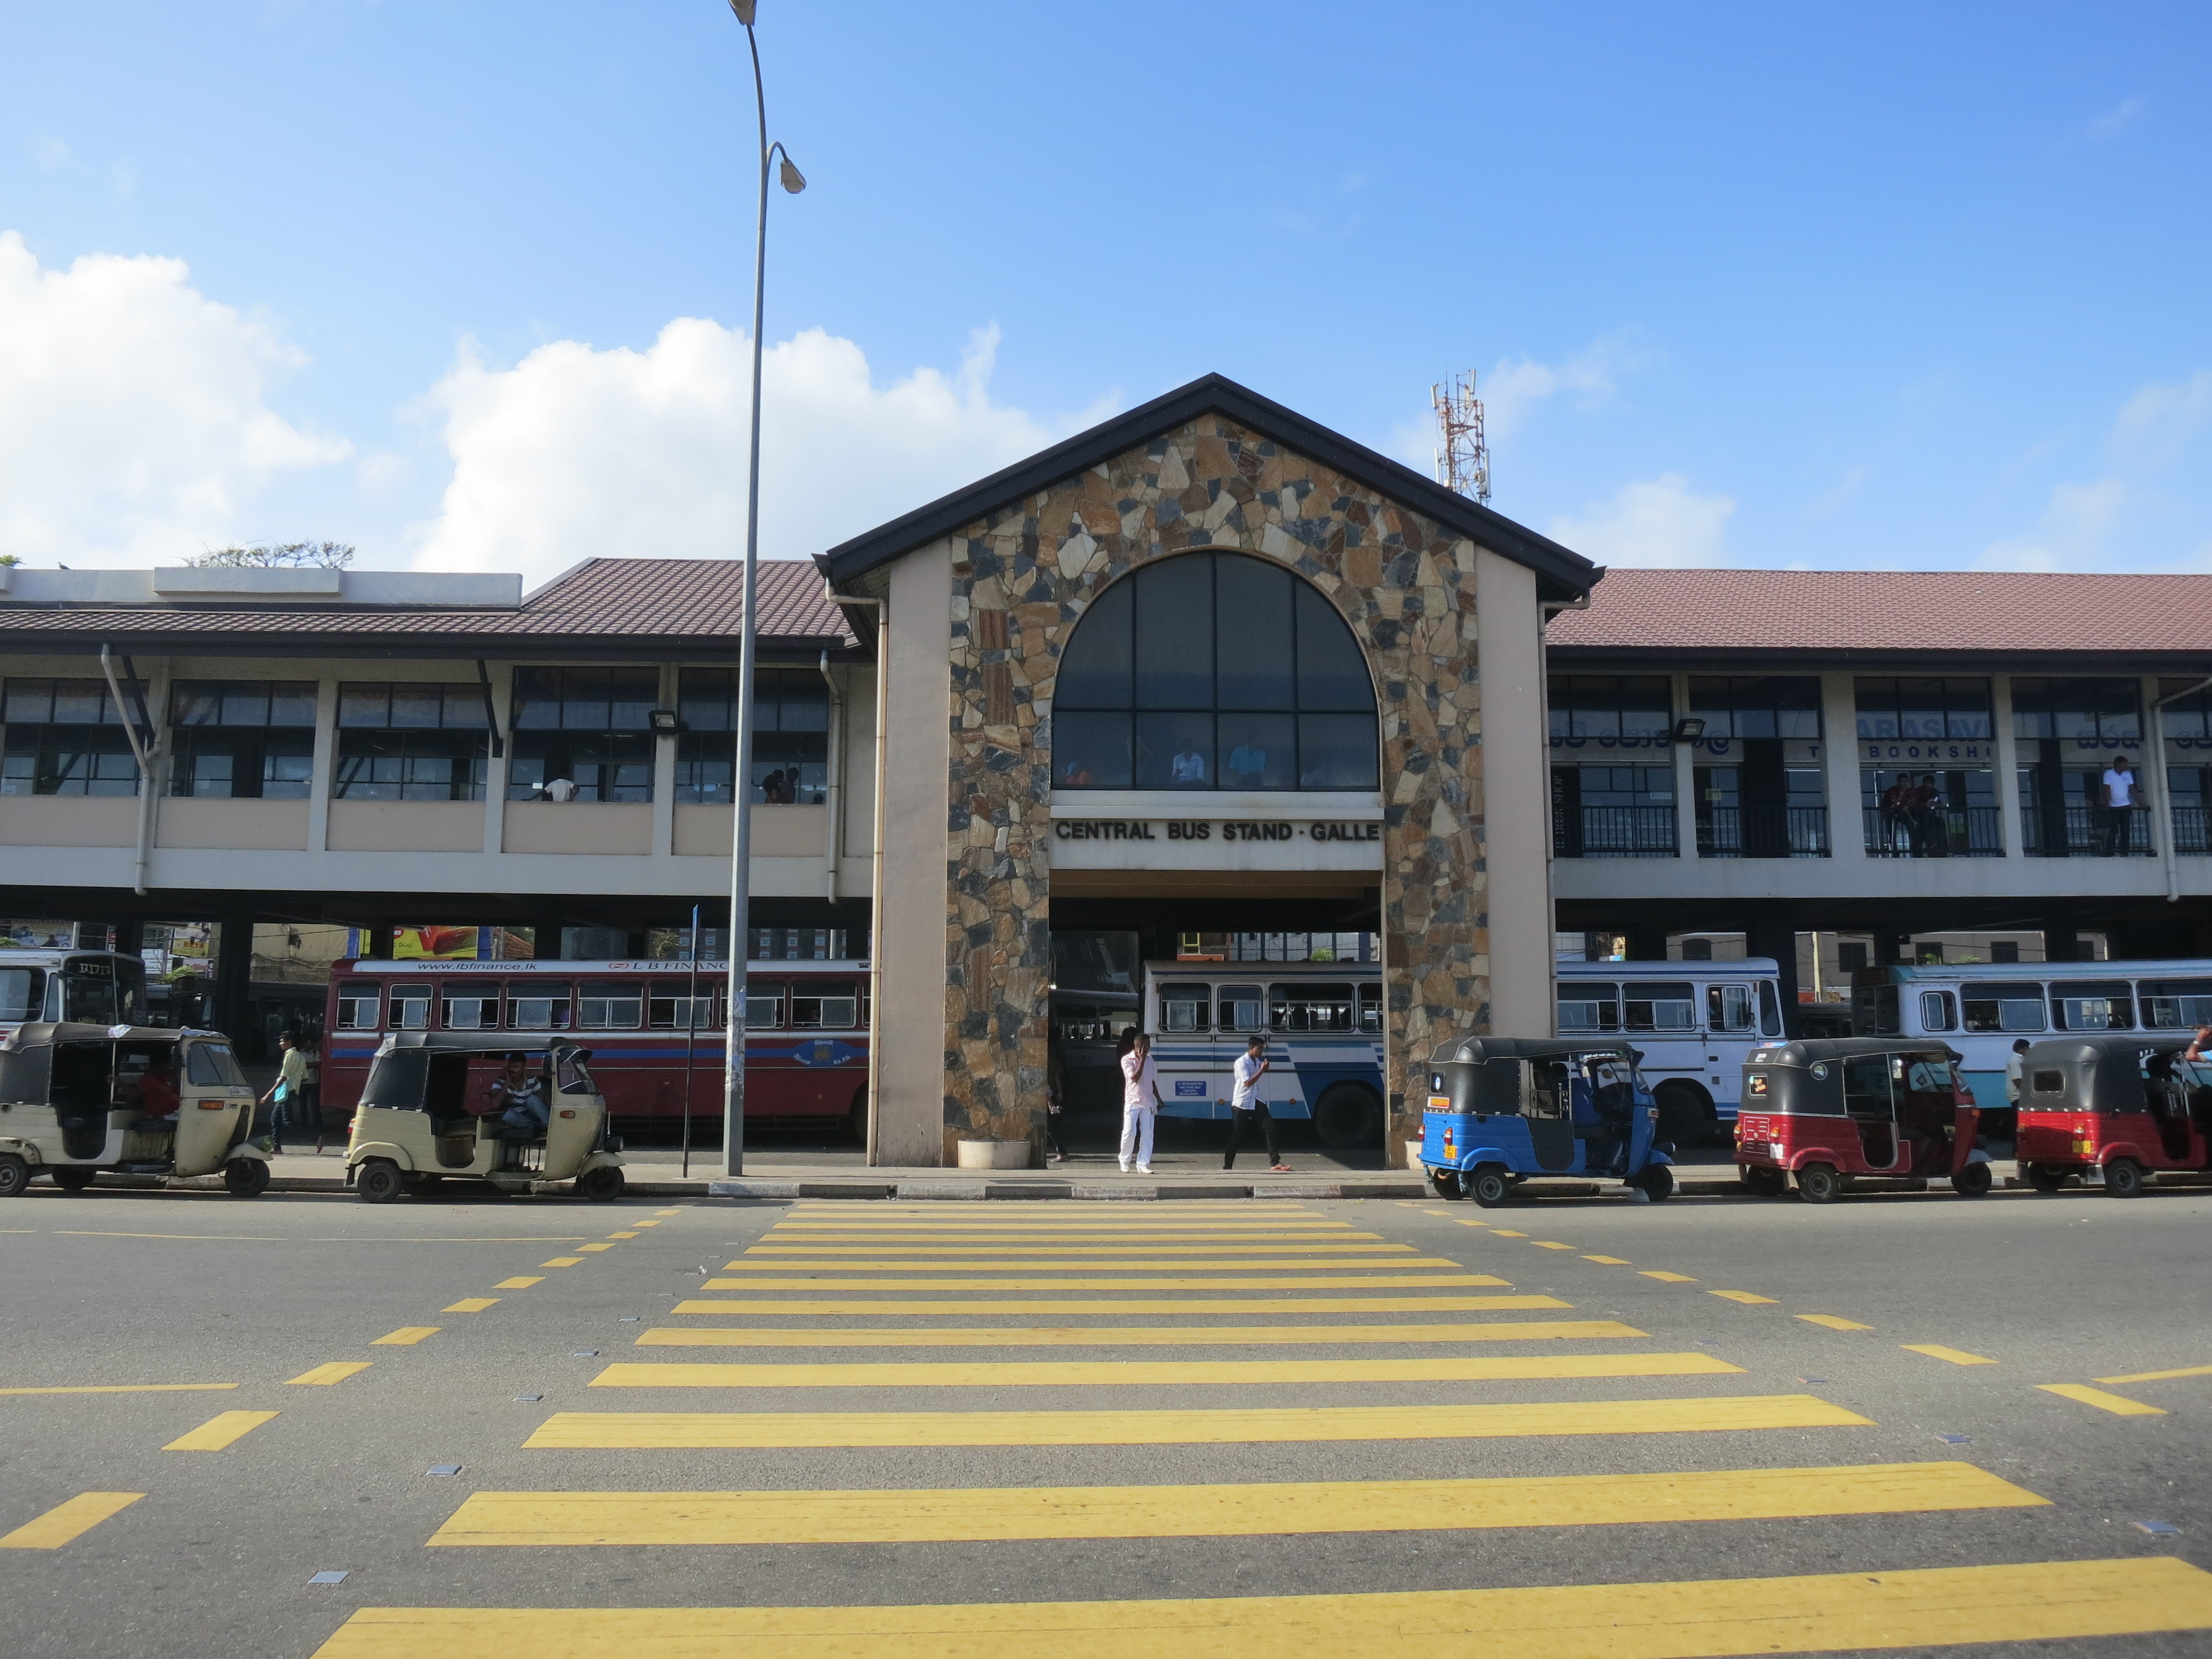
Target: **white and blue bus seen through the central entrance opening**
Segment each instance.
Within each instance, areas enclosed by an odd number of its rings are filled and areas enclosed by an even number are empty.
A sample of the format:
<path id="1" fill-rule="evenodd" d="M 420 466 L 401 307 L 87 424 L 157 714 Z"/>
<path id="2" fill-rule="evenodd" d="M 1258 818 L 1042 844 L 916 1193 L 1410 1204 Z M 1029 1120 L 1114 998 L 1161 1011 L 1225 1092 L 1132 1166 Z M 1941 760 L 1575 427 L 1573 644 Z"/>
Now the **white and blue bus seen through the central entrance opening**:
<path id="1" fill-rule="evenodd" d="M 1144 1031 L 1164 1117 L 1228 1119 L 1230 1066 L 1259 1035 L 1272 1117 L 1310 1117 L 1332 1148 L 1383 1141 L 1378 962 L 1146 962 Z"/>

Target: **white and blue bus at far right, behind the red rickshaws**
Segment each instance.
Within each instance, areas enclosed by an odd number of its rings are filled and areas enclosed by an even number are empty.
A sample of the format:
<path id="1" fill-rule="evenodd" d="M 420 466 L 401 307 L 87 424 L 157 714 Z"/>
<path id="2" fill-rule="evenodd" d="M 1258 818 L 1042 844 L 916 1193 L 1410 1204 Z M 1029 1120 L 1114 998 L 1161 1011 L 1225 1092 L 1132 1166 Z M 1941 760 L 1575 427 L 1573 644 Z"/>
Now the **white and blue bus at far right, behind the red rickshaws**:
<path id="1" fill-rule="evenodd" d="M 1851 975 L 1851 1031 L 1942 1037 L 1982 1110 L 2002 1113 L 2013 1044 L 2059 1033 L 2212 1024 L 2212 962 L 1951 962 Z"/>

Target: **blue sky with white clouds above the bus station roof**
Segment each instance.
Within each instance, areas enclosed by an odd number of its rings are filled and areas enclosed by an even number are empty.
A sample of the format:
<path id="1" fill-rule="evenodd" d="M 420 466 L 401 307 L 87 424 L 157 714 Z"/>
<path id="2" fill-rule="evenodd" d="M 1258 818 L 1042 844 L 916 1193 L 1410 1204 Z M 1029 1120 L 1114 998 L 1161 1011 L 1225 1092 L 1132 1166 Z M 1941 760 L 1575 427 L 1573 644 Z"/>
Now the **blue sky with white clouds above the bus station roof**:
<path id="1" fill-rule="evenodd" d="M 2212 568 L 2205 7 L 763 0 L 768 549 L 1208 369 L 1608 562 Z M 734 553 L 719 0 L 0 13 L 0 551 Z M 681 319 L 695 319 L 684 323 Z"/>

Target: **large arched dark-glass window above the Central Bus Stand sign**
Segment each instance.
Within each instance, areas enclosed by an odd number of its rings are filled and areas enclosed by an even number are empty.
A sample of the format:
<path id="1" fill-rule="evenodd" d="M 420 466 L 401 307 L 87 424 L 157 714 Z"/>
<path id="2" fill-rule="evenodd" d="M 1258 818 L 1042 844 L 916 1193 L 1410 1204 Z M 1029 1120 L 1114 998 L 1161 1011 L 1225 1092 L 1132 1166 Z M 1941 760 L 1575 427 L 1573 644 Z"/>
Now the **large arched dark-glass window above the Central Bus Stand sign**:
<path id="1" fill-rule="evenodd" d="M 1376 692 L 1312 586 L 1186 553 L 1102 593 L 1060 653 L 1057 790 L 1374 790 Z"/>

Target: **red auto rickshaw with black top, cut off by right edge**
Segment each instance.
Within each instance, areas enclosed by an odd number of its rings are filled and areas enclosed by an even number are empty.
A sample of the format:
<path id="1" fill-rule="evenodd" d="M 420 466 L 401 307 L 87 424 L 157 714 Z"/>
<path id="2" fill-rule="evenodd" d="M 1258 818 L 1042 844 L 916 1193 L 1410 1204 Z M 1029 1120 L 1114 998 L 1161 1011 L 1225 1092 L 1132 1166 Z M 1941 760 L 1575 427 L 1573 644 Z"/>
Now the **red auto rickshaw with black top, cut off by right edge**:
<path id="1" fill-rule="evenodd" d="M 2037 1192 L 2104 1177 L 2115 1199 L 2143 1170 L 2212 1166 L 2212 1062 L 2181 1035 L 2057 1037 L 2020 1057 L 2020 1172 Z"/>

